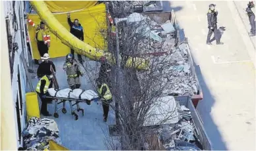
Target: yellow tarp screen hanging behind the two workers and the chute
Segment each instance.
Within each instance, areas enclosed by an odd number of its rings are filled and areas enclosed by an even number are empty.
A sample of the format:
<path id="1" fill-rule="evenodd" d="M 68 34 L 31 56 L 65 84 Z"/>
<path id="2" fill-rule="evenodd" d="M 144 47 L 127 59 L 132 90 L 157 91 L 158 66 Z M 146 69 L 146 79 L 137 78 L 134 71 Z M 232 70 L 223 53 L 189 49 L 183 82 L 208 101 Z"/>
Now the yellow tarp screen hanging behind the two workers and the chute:
<path id="1" fill-rule="evenodd" d="M 66 12 L 53 13 L 53 16 L 68 31 L 70 30 Z M 38 14 L 28 14 L 28 18 L 36 24 L 36 27 L 42 21 Z M 106 31 L 108 29 L 108 26 L 106 26 L 106 6 L 101 4 L 82 11 L 71 12 L 71 20 L 73 21 L 75 18 L 79 19 L 80 24 L 84 28 L 84 43 L 96 49 L 106 50 L 106 40 L 100 33 L 100 30 Z M 46 26 L 46 28 L 48 27 Z M 32 47 L 32 56 L 34 59 L 40 59 L 38 45 L 35 39 L 36 28 L 28 24 L 28 33 Z M 51 46 L 49 47 L 49 56 L 51 56 L 51 58 L 66 56 L 70 53 L 70 48 L 63 44 L 61 39 L 52 32 L 50 32 L 49 35 L 51 36 Z"/>

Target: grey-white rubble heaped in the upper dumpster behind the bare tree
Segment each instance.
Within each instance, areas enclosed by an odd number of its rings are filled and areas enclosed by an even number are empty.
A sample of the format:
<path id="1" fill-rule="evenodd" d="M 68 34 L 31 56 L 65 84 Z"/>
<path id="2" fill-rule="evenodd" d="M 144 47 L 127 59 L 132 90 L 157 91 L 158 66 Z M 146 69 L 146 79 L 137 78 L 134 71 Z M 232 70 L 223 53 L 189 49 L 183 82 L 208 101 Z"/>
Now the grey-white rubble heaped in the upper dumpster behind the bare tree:
<path id="1" fill-rule="evenodd" d="M 194 73 L 191 72 L 193 62 L 189 58 L 189 50 L 184 43 L 175 47 L 174 32 L 176 30 L 170 20 L 161 25 L 147 16 L 133 13 L 127 17 L 127 24 L 134 22 L 139 24 L 135 32 L 144 35 L 144 39 L 138 43 L 139 56 L 148 57 L 151 70 L 159 70 L 157 71 L 160 77 L 158 80 L 164 87 L 163 94 L 196 95 L 199 87 Z M 138 72 L 139 81 L 141 81 L 140 77 L 144 78 L 150 72 L 152 73 L 152 71 Z"/>

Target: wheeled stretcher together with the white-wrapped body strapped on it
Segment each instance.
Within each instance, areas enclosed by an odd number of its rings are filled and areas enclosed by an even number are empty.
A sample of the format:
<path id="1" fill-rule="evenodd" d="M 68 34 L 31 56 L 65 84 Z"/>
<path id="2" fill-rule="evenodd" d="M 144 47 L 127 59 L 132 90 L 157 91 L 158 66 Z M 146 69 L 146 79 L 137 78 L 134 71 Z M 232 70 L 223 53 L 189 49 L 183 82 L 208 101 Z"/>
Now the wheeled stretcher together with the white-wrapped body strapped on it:
<path id="1" fill-rule="evenodd" d="M 93 100 L 98 100 L 98 94 L 92 90 L 82 90 L 82 89 L 61 89 L 56 90 L 54 88 L 48 89 L 49 96 L 47 98 L 52 98 L 55 100 L 55 112 L 53 116 L 55 118 L 59 117 L 58 111 L 61 110 L 63 114 L 67 113 L 65 108 L 65 102 L 69 101 L 69 105 L 71 107 L 71 114 L 75 116 L 75 120 L 79 118 L 78 114 L 75 112 L 82 112 L 82 116 L 84 116 L 84 110 L 80 108 L 80 102 L 86 102 L 86 104 L 90 105 L 90 102 Z M 75 103 L 73 103 L 75 102 Z M 59 104 L 63 104 L 61 108 L 58 108 Z M 77 106 L 74 108 L 73 106 Z"/>

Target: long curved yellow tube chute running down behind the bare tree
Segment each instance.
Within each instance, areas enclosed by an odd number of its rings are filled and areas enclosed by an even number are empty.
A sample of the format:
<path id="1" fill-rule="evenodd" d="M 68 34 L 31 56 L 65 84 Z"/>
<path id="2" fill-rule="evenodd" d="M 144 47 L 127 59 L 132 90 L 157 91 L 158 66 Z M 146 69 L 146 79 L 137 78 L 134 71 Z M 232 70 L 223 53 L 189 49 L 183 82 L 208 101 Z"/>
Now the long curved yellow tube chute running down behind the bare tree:
<path id="1" fill-rule="evenodd" d="M 115 63 L 111 53 L 105 51 L 96 50 L 94 47 L 80 41 L 77 37 L 71 34 L 58 20 L 51 14 L 46 3 L 44 1 L 30 1 L 41 20 L 45 22 L 49 30 L 56 35 L 61 42 L 74 49 L 76 53 L 82 54 L 92 60 L 99 60 L 102 56 L 105 56 L 110 62 Z M 135 63 L 134 63 L 135 62 Z M 143 58 L 131 58 L 127 60 L 127 67 L 135 66 L 138 69 L 148 68 L 148 62 Z"/>

